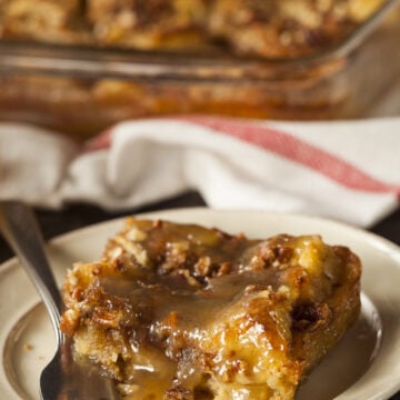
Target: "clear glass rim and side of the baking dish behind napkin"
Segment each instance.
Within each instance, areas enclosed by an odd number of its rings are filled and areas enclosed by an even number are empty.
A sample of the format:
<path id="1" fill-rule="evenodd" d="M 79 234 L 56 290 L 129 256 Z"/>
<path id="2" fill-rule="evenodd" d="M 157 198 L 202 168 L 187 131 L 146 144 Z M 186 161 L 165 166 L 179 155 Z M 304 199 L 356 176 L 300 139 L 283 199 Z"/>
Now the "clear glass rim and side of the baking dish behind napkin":
<path id="1" fill-rule="evenodd" d="M 296 59 L 0 41 L 0 120 L 86 139 L 126 119 L 212 113 L 362 118 L 400 77 L 398 0 L 332 48 Z"/>

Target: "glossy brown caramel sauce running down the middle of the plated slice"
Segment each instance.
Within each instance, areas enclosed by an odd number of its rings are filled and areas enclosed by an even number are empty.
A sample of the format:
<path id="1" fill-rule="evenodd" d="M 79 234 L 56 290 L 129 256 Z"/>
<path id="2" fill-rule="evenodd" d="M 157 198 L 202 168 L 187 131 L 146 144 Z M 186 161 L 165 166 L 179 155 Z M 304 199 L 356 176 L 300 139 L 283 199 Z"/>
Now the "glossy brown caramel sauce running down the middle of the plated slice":
<path id="1" fill-rule="evenodd" d="M 203 340 L 210 339 L 208 327 L 240 301 L 246 289 L 272 287 L 277 290 L 279 276 L 272 270 L 248 271 L 211 278 L 200 289 L 180 276 L 149 273 L 140 280 L 134 274 L 101 279 L 104 292 L 121 299 L 139 321 L 129 338 L 138 359 L 131 363 L 131 377 L 124 377 L 124 380 L 140 382 L 132 399 L 150 396 L 144 393 L 154 387 L 163 393 L 173 381 L 184 387 L 193 386 L 190 381 L 198 384 L 202 377 L 193 360 L 197 354 L 188 349 L 199 348 Z M 188 353 L 183 358 L 182 350 Z"/>

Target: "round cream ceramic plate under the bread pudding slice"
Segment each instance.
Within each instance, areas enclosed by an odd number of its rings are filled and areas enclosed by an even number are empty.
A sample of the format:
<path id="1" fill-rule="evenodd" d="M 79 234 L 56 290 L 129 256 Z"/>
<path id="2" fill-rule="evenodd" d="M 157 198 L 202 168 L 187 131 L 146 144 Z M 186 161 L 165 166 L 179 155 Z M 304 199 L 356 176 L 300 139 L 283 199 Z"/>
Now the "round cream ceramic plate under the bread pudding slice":
<path id="1" fill-rule="evenodd" d="M 259 211 L 181 209 L 143 214 L 197 222 L 266 238 L 320 233 L 361 257 L 362 312 L 359 321 L 311 374 L 297 400 L 383 400 L 400 389 L 400 249 L 374 234 L 318 218 Z M 114 220 L 53 240 L 49 257 L 61 283 L 74 261 L 99 258 L 106 240 L 122 227 Z M 54 351 L 44 309 L 13 259 L 0 266 L 0 399 L 39 399 L 39 374 Z"/>

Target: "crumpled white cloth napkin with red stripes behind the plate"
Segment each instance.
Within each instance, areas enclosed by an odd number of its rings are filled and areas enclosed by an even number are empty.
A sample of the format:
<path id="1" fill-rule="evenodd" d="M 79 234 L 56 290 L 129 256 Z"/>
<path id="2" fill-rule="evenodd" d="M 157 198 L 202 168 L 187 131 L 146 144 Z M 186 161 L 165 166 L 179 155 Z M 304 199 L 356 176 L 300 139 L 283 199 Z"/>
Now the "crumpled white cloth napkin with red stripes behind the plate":
<path id="1" fill-rule="evenodd" d="M 220 209 L 318 214 L 368 227 L 399 206 L 400 118 L 127 121 L 84 147 L 0 124 L 0 198 L 122 210 L 198 190 Z"/>

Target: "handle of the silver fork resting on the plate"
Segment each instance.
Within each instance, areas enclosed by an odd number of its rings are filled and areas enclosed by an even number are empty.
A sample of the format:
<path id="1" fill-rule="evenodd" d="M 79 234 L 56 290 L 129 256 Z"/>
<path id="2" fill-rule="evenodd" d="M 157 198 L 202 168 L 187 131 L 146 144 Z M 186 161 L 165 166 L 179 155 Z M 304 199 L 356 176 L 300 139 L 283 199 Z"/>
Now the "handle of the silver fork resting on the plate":
<path id="1" fill-rule="evenodd" d="M 0 201 L 0 230 L 38 290 L 60 342 L 61 296 L 44 254 L 43 238 L 32 210 L 22 202 Z"/>

